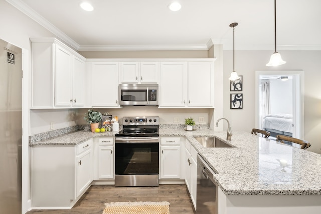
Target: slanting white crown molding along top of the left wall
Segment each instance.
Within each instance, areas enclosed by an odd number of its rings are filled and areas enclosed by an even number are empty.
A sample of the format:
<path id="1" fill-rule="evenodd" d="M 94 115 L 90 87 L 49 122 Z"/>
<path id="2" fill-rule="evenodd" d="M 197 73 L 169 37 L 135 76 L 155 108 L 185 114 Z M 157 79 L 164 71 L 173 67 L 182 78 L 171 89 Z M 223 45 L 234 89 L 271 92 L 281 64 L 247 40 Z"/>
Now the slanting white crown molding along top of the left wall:
<path id="1" fill-rule="evenodd" d="M 74 49 L 79 49 L 79 44 L 76 43 L 73 39 L 68 37 L 64 32 L 59 30 L 56 26 L 51 24 L 48 20 L 38 14 L 35 10 L 30 8 L 26 3 L 21 0 L 6 0 L 9 4 L 20 10 L 22 13 L 39 23 L 41 26 L 52 32 L 54 35 L 67 42 Z"/>

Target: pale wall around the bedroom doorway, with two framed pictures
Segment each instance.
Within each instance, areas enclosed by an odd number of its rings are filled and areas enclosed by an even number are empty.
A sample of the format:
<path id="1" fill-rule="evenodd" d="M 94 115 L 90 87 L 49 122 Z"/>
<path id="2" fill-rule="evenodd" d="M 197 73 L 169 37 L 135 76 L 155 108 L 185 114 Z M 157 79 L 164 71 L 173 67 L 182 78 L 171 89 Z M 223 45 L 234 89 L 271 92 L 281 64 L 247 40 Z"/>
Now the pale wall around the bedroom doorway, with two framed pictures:
<path id="1" fill-rule="evenodd" d="M 235 51 L 235 71 L 243 75 L 243 109 L 230 109 L 229 75 L 233 70 L 233 51 L 223 52 L 223 116 L 232 130 L 250 132 L 255 127 L 255 71 L 303 70 L 304 76 L 304 140 L 311 143 L 309 151 L 321 153 L 321 51 L 280 51 L 286 64 L 267 67 L 273 51 Z"/>

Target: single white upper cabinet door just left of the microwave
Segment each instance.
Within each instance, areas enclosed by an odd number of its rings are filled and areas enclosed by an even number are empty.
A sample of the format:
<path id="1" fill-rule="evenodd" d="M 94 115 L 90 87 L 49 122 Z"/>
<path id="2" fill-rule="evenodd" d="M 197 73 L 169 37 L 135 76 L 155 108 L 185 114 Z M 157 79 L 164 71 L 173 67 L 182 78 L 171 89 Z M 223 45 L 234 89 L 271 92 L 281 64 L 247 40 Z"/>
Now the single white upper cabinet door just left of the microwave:
<path id="1" fill-rule="evenodd" d="M 118 63 L 93 63 L 92 106 L 118 106 Z"/>

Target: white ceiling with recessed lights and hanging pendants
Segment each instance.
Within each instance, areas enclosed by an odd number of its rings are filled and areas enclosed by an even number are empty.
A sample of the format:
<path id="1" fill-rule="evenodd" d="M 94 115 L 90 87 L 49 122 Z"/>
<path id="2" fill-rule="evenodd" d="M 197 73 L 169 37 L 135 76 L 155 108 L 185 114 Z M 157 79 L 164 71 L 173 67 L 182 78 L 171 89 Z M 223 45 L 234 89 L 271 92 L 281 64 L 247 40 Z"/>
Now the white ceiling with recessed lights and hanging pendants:
<path id="1" fill-rule="evenodd" d="M 273 0 L 6 0 L 77 50 L 274 50 Z M 277 0 L 277 50 L 321 50 L 321 0 Z M 212 41 L 211 41 L 212 40 Z"/>

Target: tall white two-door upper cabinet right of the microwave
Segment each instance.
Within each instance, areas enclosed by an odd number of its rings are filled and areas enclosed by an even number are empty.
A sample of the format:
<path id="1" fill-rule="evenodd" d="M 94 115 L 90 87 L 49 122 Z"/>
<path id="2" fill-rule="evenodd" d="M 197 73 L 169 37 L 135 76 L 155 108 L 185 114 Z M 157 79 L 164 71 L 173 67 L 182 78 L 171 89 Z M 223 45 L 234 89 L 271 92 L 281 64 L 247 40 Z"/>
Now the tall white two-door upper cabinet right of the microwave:
<path id="1" fill-rule="evenodd" d="M 162 62 L 161 102 L 163 108 L 214 107 L 214 62 Z"/>

